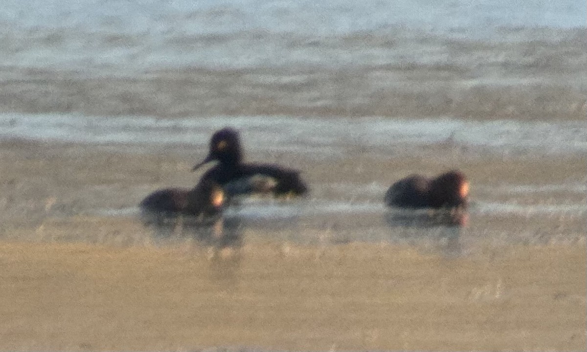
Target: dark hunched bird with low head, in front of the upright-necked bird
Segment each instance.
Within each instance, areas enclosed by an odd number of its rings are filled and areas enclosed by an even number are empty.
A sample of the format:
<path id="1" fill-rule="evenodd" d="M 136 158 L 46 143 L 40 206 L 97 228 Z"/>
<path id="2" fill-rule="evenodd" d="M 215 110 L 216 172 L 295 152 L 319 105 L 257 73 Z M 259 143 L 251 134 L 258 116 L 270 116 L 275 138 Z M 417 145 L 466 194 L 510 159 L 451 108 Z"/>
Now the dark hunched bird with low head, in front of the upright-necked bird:
<path id="1" fill-rule="evenodd" d="M 146 225 L 174 223 L 178 218 L 195 224 L 211 224 L 222 214 L 224 189 L 212 181 L 194 188 L 163 188 L 147 195 L 139 204 Z"/>

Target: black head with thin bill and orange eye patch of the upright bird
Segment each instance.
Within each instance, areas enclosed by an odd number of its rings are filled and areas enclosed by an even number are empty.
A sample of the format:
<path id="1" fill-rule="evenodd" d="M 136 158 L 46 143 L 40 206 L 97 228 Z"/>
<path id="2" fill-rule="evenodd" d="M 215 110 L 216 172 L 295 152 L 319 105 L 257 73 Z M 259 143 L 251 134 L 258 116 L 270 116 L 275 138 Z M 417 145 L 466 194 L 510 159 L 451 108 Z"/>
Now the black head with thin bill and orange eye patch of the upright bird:
<path id="1" fill-rule="evenodd" d="M 242 161 L 241 140 L 234 128 L 225 127 L 216 131 L 210 138 L 208 156 L 195 165 L 192 171 L 198 170 L 211 161 L 218 161 L 225 165 L 237 165 Z"/>

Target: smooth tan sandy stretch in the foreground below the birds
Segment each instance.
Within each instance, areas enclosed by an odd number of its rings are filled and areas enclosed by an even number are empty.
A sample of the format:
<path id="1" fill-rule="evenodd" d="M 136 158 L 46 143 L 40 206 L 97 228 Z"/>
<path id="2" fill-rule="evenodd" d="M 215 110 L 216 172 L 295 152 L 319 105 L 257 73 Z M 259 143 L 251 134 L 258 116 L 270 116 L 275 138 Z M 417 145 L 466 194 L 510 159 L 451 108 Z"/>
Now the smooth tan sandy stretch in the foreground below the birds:
<path id="1" fill-rule="evenodd" d="M 0 250 L 2 350 L 585 346 L 584 246 L 487 247 L 474 258 L 254 240 L 220 252 L 59 243 Z"/>

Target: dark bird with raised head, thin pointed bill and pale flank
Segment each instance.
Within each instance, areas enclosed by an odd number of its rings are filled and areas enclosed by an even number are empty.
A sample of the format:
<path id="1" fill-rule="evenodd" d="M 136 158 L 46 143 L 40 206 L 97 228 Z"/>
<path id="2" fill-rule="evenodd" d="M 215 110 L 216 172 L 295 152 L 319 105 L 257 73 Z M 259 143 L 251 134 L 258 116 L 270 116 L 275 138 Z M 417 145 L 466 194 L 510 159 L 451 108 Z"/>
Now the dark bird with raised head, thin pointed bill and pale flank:
<path id="1" fill-rule="evenodd" d="M 244 163 L 238 132 L 230 127 L 212 135 L 208 156 L 193 171 L 212 161 L 217 164 L 202 175 L 200 182 L 221 185 L 229 197 L 255 193 L 289 197 L 308 192 L 297 170 L 275 164 Z"/>

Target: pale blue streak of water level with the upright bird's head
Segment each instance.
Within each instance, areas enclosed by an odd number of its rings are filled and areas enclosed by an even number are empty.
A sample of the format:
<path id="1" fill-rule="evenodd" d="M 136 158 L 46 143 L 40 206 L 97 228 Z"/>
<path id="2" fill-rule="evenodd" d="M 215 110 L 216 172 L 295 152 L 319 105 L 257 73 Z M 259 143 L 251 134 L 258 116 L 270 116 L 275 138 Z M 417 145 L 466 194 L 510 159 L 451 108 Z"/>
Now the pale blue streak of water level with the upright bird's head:
<path id="1" fill-rule="evenodd" d="M 88 117 L 0 114 L 0 137 L 97 145 L 125 144 L 137 151 L 170 145 L 205 148 L 211 133 L 230 124 L 245 131 L 256 150 L 331 157 L 345 145 L 390 154 L 398 148 L 449 144 L 470 152 L 561 155 L 587 153 L 585 121 L 550 123 L 437 119 L 322 120 L 285 116 L 161 120 L 144 116 Z M 284 135 L 284 131 L 287 133 Z M 139 148 L 140 147 L 140 148 Z"/>

